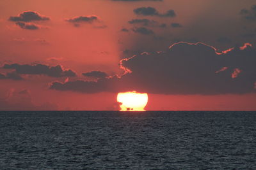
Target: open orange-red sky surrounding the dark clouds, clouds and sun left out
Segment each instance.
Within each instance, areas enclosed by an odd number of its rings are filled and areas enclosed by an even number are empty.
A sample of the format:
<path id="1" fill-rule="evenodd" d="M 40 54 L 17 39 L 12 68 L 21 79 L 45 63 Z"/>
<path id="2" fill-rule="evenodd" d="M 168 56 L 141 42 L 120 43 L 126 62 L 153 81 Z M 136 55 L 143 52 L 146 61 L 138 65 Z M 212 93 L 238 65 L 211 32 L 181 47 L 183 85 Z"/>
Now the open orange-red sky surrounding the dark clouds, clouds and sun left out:
<path id="1" fill-rule="evenodd" d="M 250 43 L 254 49 L 252 52 L 255 52 L 256 18 L 247 20 L 245 15 L 239 14 L 242 9 L 250 11 L 252 5 L 256 4 L 255 1 L 234 0 L 232 4 L 228 2 L 221 0 L 189 2 L 186 0 L 138 2 L 2 0 L 0 1 L 0 73 L 7 75 L 10 71 L 14 71 L 4 69 L 4 64 L 28 64 L 30 66 L 44 64 L 49 67 L 60 64 L 63 70 L 71 69 L 77 76 L 70 76 L 67 79 L 67 76 L 20 73 L 23 80 L 0 79 L 0 110 L 118 110 L 116 91 L 102 89 L 102 91 L 90 93 L 81 92 L 81 90 L 74 92 L 74 90 L 49 89 L 49 87 L 53 81 L 65 83 L 77 80 L 96 80 L 83 76 L 82 73 L 90 71 L 102 71 L 109 76 L 114 74 L 122 76 L 124 70 L 119 66 L 121 59 L 138 55 L 141 52 L 164 51 L 168 49 L 168 46 L 179 41 L 191 43 L 201 41 L 220 51 Z M 136 8 L 149 6 L 155 8 L 160 14 L 174 10 L 176 16 L 143 16 L 136 15 L 133 11 Z M 37 25 L 39 29 L 36 30 L 24 29 L 17 25 L 17 22 L 8 20 L 11 16 L 17 17 L 24 11 L 35 11 L 50 19 L 22 22 Z M 256 11 L 250 11 L 250 13 L 253 12 L 256 13 Z M 74 17 L 91 15 L 97 16 L 99 20 L 92 23 L 76 22 L 79 26 L 66 21 Z M 136 25 L 128 22 L 132 19 L 145 18 L 154 20 L 154 24 Z M 172 27 L 172 23 L 179 23 L 182 27 Z M 166 24 L 166 27 L 160 27 L 160 24 Z M 145 27 L 154 33 L 136 32 L 139 27 Z M 124 28 L 128 32 L 121 31 Z M 251 53 L 248 55 L 251 56 Z M 248 72 L 242 69 L 242 73 L 246 73 L 246 78 L 254 78 L 256 82 L 255 72 L 253 72 L 255 69 L 251 69 L 250 63 L 253 65 L 255 60 L 249 62 L 248 66 L 246 65 L 248 62 L 241 63 L 240 60 L 237 63 L 234 62 L 232 66 L 240 68 L 239 64 L 242 64 L 241 67 L 250 68 Z M 134 64 L 133 61 L 132 64 Z M 132 65 L 135 69 L 136 66 L 136 64 Z M 134 70 L 134 74 L 140 72 L 143 72 L 143 69 L 138 72 Z M 181 75 L 181 72 L 176 73 L 177 77 Z M 139 74 L 134 77 L 138 78 Z M 156 79 L 158 80 L 157 77 Z M 246 80 L 248 79 L 244 78 L 243 81 Z M 168 83 L 174 82 L 166 77 L 167 81 Z M 250 81 L 253 80 L 250 79 Z M 131 82 L 131 85 L 134 84 Z M 145 84 L 145 89 L 147 87 L 148 84 Z M 223 94 L 204 94 L 198 91 L 193 94 L 170 93 L 169 91 L 157 94 L 157 92 L 149 91 L 146 109 L 256 110 L 255 103 L 255 90 L 237 93 L 223 92 Z"/>

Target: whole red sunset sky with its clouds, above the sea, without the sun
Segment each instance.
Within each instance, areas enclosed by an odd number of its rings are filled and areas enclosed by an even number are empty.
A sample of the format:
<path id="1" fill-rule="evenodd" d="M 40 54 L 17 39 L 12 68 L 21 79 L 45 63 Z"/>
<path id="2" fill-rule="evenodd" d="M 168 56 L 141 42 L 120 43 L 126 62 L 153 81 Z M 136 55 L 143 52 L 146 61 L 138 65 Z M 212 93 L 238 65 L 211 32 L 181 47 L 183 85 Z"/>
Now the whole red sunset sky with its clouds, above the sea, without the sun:
<path id="1" fill-rule="evenodd" d="M 1 0 L 0 110 L 256 110 L 252 0 Z"/>

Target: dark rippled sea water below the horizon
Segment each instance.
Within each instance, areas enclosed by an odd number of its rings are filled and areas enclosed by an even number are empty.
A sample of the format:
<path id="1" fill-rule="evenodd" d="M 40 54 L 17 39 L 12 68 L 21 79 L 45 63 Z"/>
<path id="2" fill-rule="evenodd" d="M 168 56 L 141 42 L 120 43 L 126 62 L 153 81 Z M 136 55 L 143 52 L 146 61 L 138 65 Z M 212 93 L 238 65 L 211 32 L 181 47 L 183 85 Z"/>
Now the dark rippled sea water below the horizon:
<path id="1" fill-rule="evenodd" d="M 256 169 L 256 112 L 0 112 L 0 169 Z"/>

